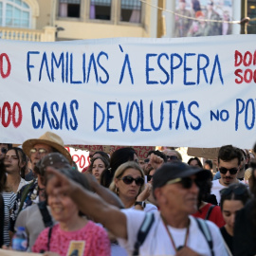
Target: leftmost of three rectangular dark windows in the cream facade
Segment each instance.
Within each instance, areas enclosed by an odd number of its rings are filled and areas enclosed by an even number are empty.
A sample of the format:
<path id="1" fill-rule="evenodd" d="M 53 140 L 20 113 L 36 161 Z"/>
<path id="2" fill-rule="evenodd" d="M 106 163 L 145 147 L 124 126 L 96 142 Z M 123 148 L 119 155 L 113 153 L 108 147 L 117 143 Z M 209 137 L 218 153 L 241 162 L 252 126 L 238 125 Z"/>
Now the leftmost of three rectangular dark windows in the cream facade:
<path id="1" fill-rule="evenodd" d="M 81 0 L 60 0 L 59 16 L 80 18 Z"/>

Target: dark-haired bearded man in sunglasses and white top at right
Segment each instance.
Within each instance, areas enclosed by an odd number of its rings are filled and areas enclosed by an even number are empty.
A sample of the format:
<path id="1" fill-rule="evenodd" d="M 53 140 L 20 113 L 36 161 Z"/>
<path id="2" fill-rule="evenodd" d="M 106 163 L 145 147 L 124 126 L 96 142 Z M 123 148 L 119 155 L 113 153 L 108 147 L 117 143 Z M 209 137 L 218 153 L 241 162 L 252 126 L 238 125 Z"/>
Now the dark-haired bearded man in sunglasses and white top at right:
<path id="1" fill-rule="evenodd" d="M 220 191 L 229 187 L 230 184 L 241 182 L 237 178 L 240 170 L 242 153 L 239 148 L 232 145 L 222 146 L 218 153 L 218 169 L 220 179 L 212 181 L 211 193 L 215 194 L 218 204 L 220 203 Z"/>

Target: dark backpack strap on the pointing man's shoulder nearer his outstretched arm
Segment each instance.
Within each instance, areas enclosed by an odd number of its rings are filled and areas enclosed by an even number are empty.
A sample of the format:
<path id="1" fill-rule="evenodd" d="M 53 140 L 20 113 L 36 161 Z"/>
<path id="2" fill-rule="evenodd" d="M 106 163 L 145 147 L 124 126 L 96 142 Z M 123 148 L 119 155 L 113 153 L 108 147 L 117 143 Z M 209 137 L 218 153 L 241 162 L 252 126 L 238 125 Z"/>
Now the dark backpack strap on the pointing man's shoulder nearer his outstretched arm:
<path id="1" fill-rule="evenodd" d="M 138 255 L 138 249 L 139 247 L 142 246 L 145 238 L 147 237 L 147 234 L 149 232 L 149 230 L 152 227 L 152 224 L 155 221 L 155 215 L 152 212 L 147 212 L 146 216 L 140 226 L 140 228 L 138 229 L 137 232 L 137 241 L 134 247 L 134 252 L 133 252 L 133 256 Z"/>

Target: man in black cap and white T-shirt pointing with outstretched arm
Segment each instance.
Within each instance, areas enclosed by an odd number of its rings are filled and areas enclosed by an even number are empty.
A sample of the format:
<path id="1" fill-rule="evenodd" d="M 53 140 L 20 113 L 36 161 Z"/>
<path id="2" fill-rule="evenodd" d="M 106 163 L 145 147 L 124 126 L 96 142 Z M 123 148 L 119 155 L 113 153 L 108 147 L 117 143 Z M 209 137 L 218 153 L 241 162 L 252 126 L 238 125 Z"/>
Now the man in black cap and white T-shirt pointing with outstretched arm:
<path id="1" fill-rule="evenodd" d="M 47 194 L 62 192 L 70 196 L 84 214 L 101 223 L 118 238 L 119 245 L 126 248 L 128 255 L 228 255 L 219 229 L 210 221 L 202 220 L 204 227 L 210 231 L 211 243 L 208 243 L 205 232 L 190 215 L 197 210 L 197 184 L 203 170 L 180 162 L 166 163 L 157 169 L 153 176 L 153 190 L 160 211 L 154 213 L 113 208 L 97 194 L 83 190 L 53 168 L 48 168 L 46 172 L 49 175 Z M 144 222 L 148 214 L 150 218 Z M 147 229 L 146 223 L 152 225 L 141 244 L 137 237 L 139 230 Z M 138 244 L 137 254 L 133 254 Z"/>

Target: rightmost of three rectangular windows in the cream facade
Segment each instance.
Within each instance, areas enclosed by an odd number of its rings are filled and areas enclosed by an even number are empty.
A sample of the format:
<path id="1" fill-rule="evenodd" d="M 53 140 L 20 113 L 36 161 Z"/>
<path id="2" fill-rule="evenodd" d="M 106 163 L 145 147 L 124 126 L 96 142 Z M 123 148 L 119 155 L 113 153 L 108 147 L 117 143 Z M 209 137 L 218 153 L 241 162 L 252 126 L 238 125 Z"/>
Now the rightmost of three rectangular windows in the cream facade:
<path id="1" fill-rule="evenodd" d="M 121 0 L 120 21 L 140 23 L 141 2 L 139 0 Z"/>

